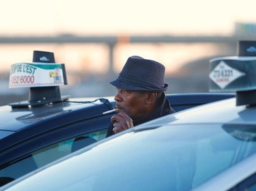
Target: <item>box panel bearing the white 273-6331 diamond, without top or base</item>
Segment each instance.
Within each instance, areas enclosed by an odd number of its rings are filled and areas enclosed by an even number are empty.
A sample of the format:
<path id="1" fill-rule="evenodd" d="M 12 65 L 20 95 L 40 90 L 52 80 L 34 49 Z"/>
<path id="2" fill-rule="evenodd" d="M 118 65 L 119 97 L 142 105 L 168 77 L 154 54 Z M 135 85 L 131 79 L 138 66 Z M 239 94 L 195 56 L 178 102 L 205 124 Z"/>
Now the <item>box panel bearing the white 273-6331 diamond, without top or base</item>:
<path id="1" fill-rule="evenodd" d="M 210 91 L 256 90 L 256 56 L 227 56 L 210 60 Z"/>

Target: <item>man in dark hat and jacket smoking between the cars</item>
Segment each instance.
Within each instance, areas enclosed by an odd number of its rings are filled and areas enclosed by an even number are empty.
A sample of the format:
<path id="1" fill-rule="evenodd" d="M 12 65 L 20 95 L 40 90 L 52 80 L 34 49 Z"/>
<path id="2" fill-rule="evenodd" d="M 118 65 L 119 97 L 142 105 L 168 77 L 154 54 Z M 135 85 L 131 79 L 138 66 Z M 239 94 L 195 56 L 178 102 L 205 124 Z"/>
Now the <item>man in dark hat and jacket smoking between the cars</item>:
<path id="1" fill-rule="evenodd" d="M 118 114 L 111 118 L 106 137 L 175 111 L 165 97 L 165 66 L 140 56 L 131 56 L 116 80 Z"/>

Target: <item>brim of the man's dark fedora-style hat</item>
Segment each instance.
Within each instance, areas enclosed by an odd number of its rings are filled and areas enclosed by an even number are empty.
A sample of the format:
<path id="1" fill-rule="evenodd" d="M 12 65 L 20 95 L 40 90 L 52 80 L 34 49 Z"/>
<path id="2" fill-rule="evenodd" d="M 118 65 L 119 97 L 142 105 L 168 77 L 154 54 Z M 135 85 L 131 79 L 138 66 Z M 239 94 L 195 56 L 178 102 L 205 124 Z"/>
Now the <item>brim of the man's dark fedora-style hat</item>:
<path id="1" fill-rule="evenodd" d="M 145 86 L 134 86 L 132 84 L 128 84 L 126 82 L 122 82 L 121 80 L 113 80 L 109 82 L 111 85 L 124 89 L 124 90 L 137 90 L 137 91 L 148 91 L 148 92 L 165 92 L 168 88 L 168 84 L 165 84 L 164 88 L 148 88 Z"/>

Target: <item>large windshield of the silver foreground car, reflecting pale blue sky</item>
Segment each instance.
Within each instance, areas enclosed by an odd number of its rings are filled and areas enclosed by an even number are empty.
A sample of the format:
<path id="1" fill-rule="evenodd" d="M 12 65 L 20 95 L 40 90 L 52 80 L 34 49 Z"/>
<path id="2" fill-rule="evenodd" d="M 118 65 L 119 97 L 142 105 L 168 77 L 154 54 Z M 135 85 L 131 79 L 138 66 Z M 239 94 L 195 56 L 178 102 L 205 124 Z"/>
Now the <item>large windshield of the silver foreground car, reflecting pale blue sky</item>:
<path id="1" fill-rule="evenodd" d="M 190 190 L 254 154 L 255 133 L 253 126 L 238 124 L 172 125 L 126 133 L 10 190 Z"/>

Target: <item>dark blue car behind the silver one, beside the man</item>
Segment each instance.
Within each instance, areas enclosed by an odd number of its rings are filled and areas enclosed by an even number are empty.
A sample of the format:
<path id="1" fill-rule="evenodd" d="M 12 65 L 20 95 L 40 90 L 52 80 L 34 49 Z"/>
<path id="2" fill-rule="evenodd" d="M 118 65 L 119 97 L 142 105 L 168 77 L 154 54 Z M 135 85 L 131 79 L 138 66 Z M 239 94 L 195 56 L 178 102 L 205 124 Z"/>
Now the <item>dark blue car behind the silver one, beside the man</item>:
<path id="1" fill-rule="evenodd" d="M 181 111 L 234 95 L 168 94 L 167 99 L 175 111 Z M 114 104 L 113 97 L 106 97 L 66 99 L 36 106 L 23 101 L 1 106 L 1 185 L 104 139 L 113 113 L 102 113 L 113 109 Z"/>

